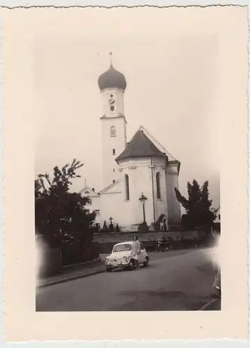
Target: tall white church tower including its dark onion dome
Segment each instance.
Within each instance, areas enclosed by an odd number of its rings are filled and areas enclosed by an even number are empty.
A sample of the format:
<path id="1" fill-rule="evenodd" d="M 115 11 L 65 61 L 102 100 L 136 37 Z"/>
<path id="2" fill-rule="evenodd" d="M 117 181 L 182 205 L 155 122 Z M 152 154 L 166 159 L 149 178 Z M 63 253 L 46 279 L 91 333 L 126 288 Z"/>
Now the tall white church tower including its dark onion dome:
<path id="1" fill-rule="evenodd" d="M 102 95 L 102 183 L 108 187 L 120 177 L 116 157 L 127 145 L 123 98 L 127 82 L 112 60 L 109 70 L 98 78 L 98 86 Z"/>

